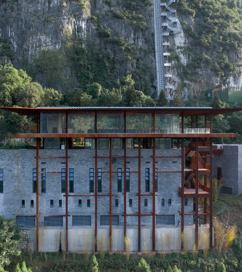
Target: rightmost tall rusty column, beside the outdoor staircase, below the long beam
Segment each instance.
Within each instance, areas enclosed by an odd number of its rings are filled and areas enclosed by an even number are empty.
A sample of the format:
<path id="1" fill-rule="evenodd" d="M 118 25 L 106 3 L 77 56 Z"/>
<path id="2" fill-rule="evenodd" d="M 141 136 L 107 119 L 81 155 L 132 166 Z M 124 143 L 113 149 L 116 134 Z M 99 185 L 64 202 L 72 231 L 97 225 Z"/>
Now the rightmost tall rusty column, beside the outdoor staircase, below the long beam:
<path id="1" fill-rule="evenodd" d="M 210 173 L 209 173 L 209 233 L 210 248 L 213 248 L 213 138 L 210 138 Z"/>

